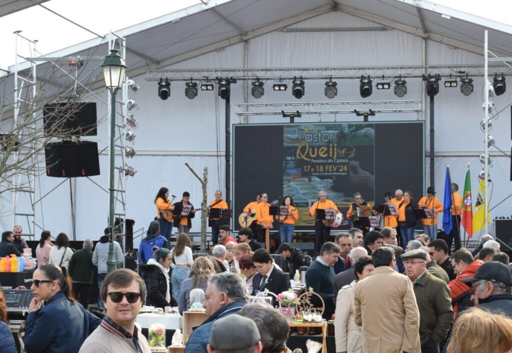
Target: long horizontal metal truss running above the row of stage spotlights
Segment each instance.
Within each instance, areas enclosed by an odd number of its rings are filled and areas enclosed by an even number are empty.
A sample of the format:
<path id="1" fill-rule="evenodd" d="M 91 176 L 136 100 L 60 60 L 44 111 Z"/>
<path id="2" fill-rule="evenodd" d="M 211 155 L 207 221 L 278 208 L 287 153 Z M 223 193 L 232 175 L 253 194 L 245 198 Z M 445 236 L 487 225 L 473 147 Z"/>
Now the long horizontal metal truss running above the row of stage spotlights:
<path id="1" fill-rule="evenodd" d="M 489 74 L 503 73 L 512 75 L 512 68 L 504 63 L 489 65 Z M 359 67 L 318 67 L 318 68 L 238 68 L 238 69 L 186 69 L 186 70 L 147 70 L 146 81 L 158 81 L 167 78 L 169 81 L 214 80 L 216 77 L 233 77 L 237 80 L 291 80 L 294 77 L 303 79 L 359 79 L 361 75 L 372 78 L 393 79 L 421 78 L 423 74 L 441 77 L 484 76 L 484 65 L 411 65 L 411 66 L 359 66 Z"/>

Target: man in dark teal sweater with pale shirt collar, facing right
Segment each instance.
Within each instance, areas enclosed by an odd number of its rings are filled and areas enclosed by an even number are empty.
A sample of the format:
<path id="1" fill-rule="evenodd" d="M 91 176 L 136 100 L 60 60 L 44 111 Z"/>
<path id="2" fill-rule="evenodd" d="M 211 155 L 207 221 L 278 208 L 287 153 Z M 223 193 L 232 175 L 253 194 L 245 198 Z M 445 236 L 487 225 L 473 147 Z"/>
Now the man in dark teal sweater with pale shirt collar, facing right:
<path id="1" fill-rule="evenodd" d="M 335 243 L 328 241 L 322 245 L 320 255 L 308 267 L 306 271 L 306 288 L 313 288 L 313 292 L 322 297 L 325 310 L 322 317 L 330 319 L 334 314 L 334 264 L 339 259 L 342 250 Z M 311 304 L 321 306 L 317 298 L 311 298 Z"/>

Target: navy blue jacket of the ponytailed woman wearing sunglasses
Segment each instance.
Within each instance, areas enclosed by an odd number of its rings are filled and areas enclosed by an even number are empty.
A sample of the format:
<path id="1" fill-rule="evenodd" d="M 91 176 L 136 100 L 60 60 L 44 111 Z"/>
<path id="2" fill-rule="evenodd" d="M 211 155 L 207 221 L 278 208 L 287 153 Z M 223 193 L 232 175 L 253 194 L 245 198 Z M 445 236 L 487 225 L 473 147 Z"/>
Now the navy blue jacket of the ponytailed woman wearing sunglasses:
<path id="1" fill-rule="evenodd" d="M 101 320 L 71 303 L 63 292 L 27 317 L 25 350 L 27 353 L 77 353 Z"/>

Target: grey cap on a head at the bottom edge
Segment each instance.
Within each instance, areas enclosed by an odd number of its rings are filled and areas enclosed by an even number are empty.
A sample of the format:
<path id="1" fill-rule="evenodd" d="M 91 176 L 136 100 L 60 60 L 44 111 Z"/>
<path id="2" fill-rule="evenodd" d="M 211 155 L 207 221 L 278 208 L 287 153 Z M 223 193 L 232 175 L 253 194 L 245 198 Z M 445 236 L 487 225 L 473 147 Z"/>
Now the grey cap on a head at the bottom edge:
<path id="1" fill-rule="evenodd" d="M 234 332 L 243 333 L 241 339 Z M 240 315 L 229 315 L 218 319 L 211 326 L 210 346 L 217 350 L 245 349 L 253 347 L 260 340 L 256 323 Z"/>

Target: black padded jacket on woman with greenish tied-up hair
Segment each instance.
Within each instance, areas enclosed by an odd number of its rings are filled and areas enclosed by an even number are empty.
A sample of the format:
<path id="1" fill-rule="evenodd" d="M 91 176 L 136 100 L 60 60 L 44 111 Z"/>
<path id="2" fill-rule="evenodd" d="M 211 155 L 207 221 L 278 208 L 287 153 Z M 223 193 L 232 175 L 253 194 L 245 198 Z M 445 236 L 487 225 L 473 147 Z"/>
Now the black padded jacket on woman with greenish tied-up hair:
<path id="1" fill-rule="evenodd" d="M 170 303 L 165 300 L 165 292 L 167 292 L 167 283 L 165 276 L 160 268 L 156 265 L 142 264 L 141 270 L 146 273 L 147 298 L 146 305 L 164 308 L 166 306 L 178 306 L 176 299 L 173 297 L 173 286 L 169 283 Z M 169 272 L 170 279 L 170 272 Z"/>

